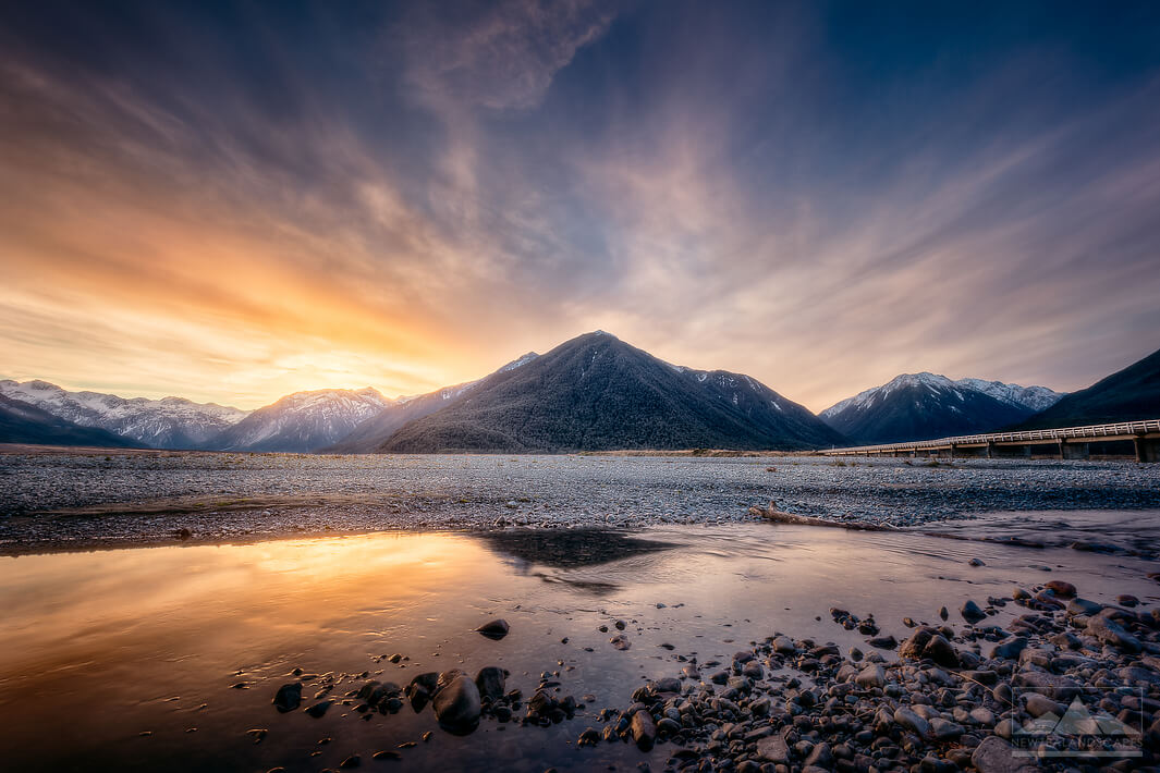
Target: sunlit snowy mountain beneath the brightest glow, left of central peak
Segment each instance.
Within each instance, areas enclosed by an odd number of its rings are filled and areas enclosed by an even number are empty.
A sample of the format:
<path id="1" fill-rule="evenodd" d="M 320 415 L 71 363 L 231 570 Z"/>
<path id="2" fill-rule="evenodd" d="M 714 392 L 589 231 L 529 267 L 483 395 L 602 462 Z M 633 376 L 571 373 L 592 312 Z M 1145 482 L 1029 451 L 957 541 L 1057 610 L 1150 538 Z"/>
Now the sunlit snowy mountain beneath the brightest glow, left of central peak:
<path id="1" fill-rule="evenodd" d="M 307 453 L 341 440 L 390 404 L 370 387 L 296 392 L 259 408 L 209 443 L 219 451 Z"/>

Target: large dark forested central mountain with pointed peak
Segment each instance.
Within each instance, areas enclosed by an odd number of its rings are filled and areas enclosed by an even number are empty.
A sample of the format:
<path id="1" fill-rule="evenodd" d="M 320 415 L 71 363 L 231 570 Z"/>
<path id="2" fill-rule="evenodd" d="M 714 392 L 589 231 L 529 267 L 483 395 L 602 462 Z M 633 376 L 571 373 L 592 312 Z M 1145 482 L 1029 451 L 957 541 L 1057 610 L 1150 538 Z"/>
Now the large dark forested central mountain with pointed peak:
<path id="1" fill-rule="evenodd" d="M 493 373 L 377 451 L 791 450 L 842 442 L 747 375 L 669 365 L 596 331 Z"/>

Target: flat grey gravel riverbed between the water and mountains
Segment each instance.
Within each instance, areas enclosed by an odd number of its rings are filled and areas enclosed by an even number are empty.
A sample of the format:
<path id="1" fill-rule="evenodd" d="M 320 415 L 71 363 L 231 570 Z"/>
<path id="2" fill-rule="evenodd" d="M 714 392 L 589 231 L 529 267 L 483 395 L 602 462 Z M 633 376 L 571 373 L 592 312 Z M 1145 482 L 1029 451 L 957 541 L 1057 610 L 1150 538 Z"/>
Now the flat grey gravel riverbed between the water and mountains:
<path id="1" fill-rule="evenodd" d="M 382 528 L 639 527 L 751 505 L 913 526 L 1160 508 L 1160 465 L 822 457 L 0 454 L 0 549 Z M 182 531 L 184 530 L 184 531 Z"/>

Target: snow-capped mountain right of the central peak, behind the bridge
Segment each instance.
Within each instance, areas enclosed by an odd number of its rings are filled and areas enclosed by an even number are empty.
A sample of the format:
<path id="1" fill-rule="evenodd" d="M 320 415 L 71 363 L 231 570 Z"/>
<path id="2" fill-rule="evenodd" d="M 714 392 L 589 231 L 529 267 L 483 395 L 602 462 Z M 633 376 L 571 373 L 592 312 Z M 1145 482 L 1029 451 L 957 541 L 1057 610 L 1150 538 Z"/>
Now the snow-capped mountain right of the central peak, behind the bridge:
<path id="1" fill-rule="evenodd" d="M 1021 422 L 1058 399 L 1046 387 L 907 373 L 819 415 L 857 444 L 870 445 L 988 432 Z"/>

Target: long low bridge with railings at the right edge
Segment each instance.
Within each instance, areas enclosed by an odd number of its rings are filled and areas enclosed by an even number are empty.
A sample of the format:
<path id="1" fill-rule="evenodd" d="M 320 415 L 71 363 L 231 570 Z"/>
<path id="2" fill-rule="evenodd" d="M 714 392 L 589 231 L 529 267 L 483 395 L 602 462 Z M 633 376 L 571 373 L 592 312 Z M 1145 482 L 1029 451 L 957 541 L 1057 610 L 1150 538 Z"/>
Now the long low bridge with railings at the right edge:
<path id="1" fill-rule="evenodd" d="M 1066 426 L 1057 430 L 1027 430 L 1023 432 L 991 432 L 963 435 L 937 440 L 884 443 L 849 449 L 831 449 L 819 453 L 827 457 L 901 457 L 919 454 L 986 457 L 987 459 L 1016 452 L 1030 457 L 1034 446 L 1054 446 L 1052 453 L 1060 459 L 1087 459 L 1090 444 L 1130 440 L 1136 449 L 1136 461 L 1160 461 L 1160 418 L 1140 422 L 1117 422 L 1092 426 Z"/>

